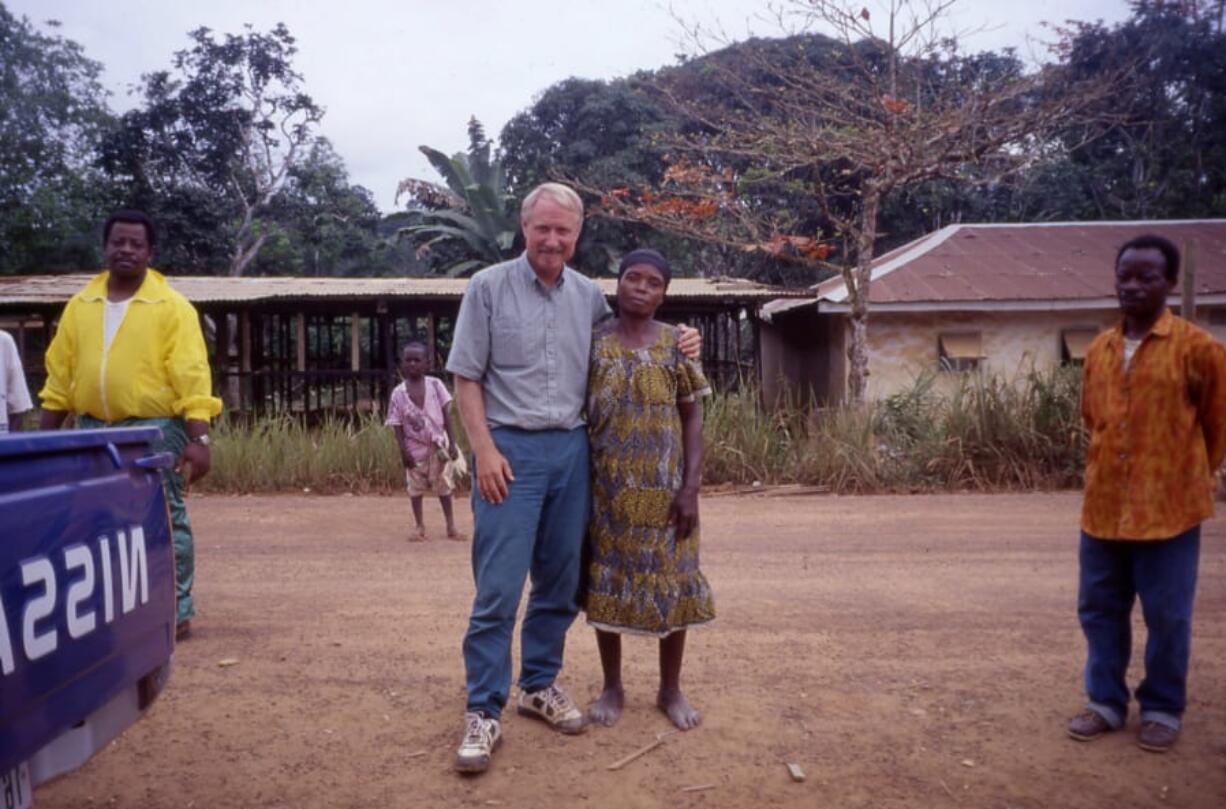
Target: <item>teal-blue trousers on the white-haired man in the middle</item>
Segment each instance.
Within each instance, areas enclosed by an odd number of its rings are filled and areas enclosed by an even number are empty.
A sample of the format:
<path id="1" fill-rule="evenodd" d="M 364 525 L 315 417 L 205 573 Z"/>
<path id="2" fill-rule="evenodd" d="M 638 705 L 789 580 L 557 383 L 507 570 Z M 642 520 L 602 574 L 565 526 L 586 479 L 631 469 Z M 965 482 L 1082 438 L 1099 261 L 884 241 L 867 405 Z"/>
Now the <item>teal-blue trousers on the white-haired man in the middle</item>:
<path id="1" fill-rule="evenodd" d="M 492 431 L 515 480 L 499 505 L 472 493 L 472 575 L 477 597 L 463 639 L 468 710 L 499 717 L 511 686 L 511 634 L 531 572 L 520 631 L 519 685 L 536 691 L 562 669 L 566 630 L 579 613 L 580 552 L 591 501 L 587 429 Z M 473 463 L 473 469 L 476 469 Z"/>

